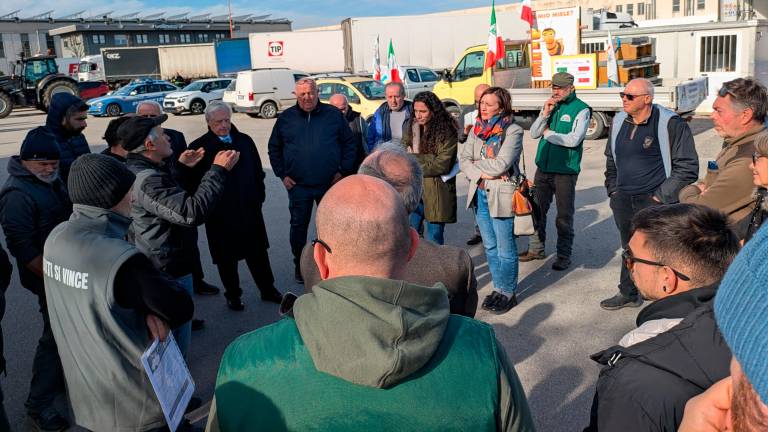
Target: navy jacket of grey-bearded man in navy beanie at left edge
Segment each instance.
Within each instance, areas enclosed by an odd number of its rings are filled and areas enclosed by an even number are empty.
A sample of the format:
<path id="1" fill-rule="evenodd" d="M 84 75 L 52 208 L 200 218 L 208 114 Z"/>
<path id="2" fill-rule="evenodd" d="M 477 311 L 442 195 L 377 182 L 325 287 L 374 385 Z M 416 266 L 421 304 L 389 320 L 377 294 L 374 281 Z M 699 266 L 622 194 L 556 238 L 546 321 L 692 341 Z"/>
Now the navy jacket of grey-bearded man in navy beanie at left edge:
<path id="1" fill-rule="evenodd" d="M 48 184 L 27 171 L 18 156 L 8 161 L 8 180 L 0 191 L 0 224 L 8 251 L 16 258 L 21 284 L 42 295 L 43 278 L 27 264 L 43 254 L 43 245 L 56 225 L 69 219 L 72 203 L 61 180 Z"/>

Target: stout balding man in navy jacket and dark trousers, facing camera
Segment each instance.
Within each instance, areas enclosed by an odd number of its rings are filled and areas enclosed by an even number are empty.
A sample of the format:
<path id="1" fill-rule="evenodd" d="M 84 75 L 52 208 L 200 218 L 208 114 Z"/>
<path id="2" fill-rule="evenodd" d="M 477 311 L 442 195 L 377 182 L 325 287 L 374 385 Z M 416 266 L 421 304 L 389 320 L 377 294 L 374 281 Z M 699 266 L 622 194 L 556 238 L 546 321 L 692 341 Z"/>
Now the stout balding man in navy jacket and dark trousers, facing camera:
<path id="1" fill-rule="evenodd" d="M 317 84 L 296 82 L 296 105 L 277 118 L 269 137 L 269 161 L 288 190 L 290 242 L 296 282 L 303 283 L 299 260 L 312 218 L 312 207 L 343 176 L 354 173 L 352 131 L 338 109 L 320 103 Z"/>

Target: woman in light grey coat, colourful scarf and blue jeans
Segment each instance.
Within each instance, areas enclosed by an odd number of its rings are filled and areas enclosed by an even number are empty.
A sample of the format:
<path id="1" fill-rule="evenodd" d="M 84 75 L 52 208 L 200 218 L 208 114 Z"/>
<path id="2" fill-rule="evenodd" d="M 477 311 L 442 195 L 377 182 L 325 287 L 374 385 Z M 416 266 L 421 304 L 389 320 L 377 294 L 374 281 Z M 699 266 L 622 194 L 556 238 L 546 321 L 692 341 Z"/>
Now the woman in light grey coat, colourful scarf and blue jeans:
<path id="1" fill-rule="evenodd" d="M 517 244 L 512 196 L 520 178 L 523 129 L 515 124 L 509 92 L 491 87 L 480 98 L 475 125 L 461 150 L 461 171 L 469 178 L 467 208 L 477 206 L 493 291 L 482 308 L 502 314 L 517 305 Z"/>

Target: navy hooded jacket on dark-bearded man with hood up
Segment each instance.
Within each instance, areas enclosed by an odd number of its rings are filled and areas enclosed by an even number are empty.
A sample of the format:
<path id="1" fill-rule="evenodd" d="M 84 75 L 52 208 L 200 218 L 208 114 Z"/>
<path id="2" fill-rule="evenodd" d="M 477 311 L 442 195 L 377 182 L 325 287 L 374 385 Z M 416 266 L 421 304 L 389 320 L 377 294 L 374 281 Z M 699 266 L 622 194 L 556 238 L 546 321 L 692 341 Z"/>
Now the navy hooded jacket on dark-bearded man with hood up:
<path id="1" fill-rule="evenodd" d="M 88 141 L 85 139 L 85 135 L 82 133 L 72 135 L 70 131 L 64 129 L 61 125 L 61 122 L 64 119 L 64 114 L 67 113 L 67 109 L 75 103 L 82 102 L 82 99 L 77 96 L 69 93 L 58 93 L 53 97 L 53 100 L 51 100 L 51 105 L 48 107 L 48 117 L 45 119 L 45 126 L 56 135 L 56 142 L 59 144 L 59 151 L 61 152 L 59 175 L 64 181 L 64 184 L 67 183 L 69 167 L 72 166 L 72 162 L 74 162 L 78 156 L 91 152 L 91 149 L 88 147 Z"/>

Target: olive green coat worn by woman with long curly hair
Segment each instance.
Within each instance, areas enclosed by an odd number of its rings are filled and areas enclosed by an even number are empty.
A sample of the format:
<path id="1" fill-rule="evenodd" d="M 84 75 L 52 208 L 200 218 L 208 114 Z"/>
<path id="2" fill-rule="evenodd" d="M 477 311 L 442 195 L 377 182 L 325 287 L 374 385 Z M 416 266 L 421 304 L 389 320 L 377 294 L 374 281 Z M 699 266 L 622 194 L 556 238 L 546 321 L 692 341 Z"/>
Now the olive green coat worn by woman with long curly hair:
<path id="1" fill-rule="evenodd" d="M 403 131 L 410 129 L 408 121 Z M 408 128 L 408 129 L 406 129 Z M 410 145 L 407 133 L 403 133 L 402 144 Z M 430 222 L 456 223 L 456 177 L 444 182 L 440 176 L 448 174 L 456 165 L 459 137 L 454 135 L 446 142 L 439 143 L 437 154 L 414 154 L 424 175 L 424 217 Z"/>

